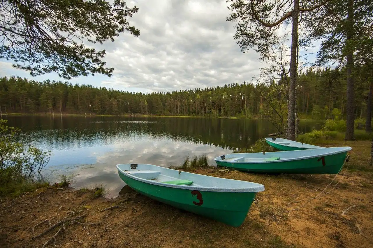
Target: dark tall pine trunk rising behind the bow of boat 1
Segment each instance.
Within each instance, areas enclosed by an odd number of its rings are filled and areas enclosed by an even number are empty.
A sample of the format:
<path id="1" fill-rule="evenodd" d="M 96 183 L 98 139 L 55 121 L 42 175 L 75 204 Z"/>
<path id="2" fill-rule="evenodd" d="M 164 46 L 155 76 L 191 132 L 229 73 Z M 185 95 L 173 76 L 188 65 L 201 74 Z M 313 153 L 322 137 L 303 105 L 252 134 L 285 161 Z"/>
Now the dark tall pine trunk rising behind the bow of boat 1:
<path id="1" fill-rule="evenodd" d="M 352 79 L 352 69 L 354 67 L 354 51 L 351 47 L 351 39 L 354 35 L 353 30 L 353 16 L 354 16 L 354 0 L 348 0 L 348 13 L 347 13 L 347 33 L 346 45 L 348 46 L 347 52 L 347 106 L 346 106 L 346 136 L 345 140 L 354 140 L 354 80 Z"/>

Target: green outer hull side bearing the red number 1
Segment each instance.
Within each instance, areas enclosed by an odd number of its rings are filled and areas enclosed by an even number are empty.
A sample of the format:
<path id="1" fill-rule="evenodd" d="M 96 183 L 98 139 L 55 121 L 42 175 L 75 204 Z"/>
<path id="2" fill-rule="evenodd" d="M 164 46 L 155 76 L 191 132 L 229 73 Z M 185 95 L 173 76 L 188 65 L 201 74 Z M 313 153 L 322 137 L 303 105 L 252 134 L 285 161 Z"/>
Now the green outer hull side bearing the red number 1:
<path id="1" fill-rule="evenodd" d="M 314 158 L 273 161 L 271 163 L 233 163 L 215 160 L 218 166 L 239 171 L 267 173 L 267 174 L 338 174 L 341 170 L 347 152 L 332 155 L 320 155 Z"/>

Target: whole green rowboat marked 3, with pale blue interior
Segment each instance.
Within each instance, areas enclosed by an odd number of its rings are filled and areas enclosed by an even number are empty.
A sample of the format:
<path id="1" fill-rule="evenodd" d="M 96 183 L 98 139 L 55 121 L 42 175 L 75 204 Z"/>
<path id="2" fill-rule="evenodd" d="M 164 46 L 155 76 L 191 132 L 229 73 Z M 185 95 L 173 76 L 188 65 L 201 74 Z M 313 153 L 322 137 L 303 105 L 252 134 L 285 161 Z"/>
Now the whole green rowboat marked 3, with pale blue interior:
<path id="1" fill-rule="evenodd" d="M 240 226 L 264 185 L 199 175 L 148 164 L 116 165 L 119 177 L 154 200 Z"/>

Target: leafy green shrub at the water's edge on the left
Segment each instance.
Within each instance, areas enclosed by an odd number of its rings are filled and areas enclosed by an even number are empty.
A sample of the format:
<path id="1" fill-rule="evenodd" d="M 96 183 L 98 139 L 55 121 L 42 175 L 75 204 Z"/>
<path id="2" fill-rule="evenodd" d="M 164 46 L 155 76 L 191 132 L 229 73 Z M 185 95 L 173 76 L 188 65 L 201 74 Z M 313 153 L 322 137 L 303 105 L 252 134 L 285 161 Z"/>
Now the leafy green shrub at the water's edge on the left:
<path id="1" fill-rule="evenodd" d="M 16 142 L 18 128 L 8 127 L 0 120 L 0 187 L 43 181 L 41 171 L 49 162 L 50 151 L 42 152 L 36 147 L 26 147 Z"/>

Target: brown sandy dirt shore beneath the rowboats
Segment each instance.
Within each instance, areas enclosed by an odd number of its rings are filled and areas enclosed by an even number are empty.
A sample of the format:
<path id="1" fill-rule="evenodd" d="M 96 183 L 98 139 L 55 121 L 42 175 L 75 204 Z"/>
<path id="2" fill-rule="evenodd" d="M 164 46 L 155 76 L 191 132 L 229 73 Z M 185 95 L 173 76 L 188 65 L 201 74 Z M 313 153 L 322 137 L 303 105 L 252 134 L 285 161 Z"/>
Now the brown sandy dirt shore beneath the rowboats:
<path id="1" fill-rule="evenodd" d="M 1 200 L 0 247 L 43 247 L 48 240 L 44 247 L 373 247 L 371 143 L 319 145 L 352 147 L 337 176 L 194 171 L 264 185 L 238 228 L 129 187 L 115 199 L 91 200 L 93 191 L 51 186 Z"/>

